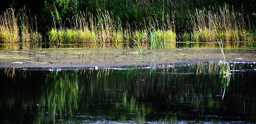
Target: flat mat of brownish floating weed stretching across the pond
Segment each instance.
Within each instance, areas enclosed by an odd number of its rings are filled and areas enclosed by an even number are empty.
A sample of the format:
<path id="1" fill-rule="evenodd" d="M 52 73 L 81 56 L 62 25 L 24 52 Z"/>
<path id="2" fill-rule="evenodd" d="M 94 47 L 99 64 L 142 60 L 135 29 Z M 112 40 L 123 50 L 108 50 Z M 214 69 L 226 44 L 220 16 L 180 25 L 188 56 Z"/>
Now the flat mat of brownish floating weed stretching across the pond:
<path id="1" fill-rule="evenodd" d="M 216 62 L 222 57 L 218 48 L 176 48 L 152 51 L 144 49 L 143 55 L 138 55 L 136 50 L 131 48 L 0 50 L 0 67 L 112 68 Z M 230 62 L 253 63 L 256 61 L 256 49 L 224 49 L 224 53 Z"/>

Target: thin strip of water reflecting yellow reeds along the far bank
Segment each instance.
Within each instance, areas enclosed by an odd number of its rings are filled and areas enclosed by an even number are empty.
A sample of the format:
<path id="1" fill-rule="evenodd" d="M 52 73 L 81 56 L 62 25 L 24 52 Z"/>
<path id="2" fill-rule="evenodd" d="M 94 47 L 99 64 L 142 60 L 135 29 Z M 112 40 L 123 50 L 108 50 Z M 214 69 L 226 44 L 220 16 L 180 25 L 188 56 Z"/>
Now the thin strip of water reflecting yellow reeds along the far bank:
<path id="1" fill-rule="evenodd" d="M 255 48 L 256 42 L 225 42 L 224 48 Z M 136 46 L 136 45 L 134 45 Z M 2 43 L 0 49 L 48 49 L 48 48 L 132 48 L 131 43 Z M 142 47 L 150 47 L 142 43 Z M 210 47 L 219 48 L 217 42 L 177 42 L 166 43 L 165 48 Z"/>

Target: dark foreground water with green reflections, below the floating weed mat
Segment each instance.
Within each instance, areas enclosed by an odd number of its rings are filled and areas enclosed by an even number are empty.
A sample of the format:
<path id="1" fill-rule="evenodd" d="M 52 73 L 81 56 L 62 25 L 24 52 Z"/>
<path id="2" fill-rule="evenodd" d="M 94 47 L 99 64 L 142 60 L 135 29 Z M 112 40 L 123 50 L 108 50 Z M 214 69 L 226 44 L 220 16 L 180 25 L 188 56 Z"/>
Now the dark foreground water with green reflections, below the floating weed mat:
<path id="1" fill-rule="evenodd" d="M 0 68 L 1 123 L 254 123 L 256 65 Z"/>

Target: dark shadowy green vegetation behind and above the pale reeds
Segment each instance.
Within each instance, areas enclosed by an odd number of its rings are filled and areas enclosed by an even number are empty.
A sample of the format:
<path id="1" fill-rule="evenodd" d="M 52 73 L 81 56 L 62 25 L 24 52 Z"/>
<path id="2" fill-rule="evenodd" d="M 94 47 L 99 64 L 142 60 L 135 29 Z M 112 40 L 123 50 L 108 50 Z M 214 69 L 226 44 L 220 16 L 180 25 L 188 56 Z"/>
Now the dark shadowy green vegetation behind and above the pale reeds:
<path id="1" fill-rule="evenodd" d="M 129 26 L 132 30 L 150 26 L 154 20 L 164 22 L 166 18 L 163 17 L 173 15 L 179 37 L 184 32 L 191 32 L 190 16 L 195 14 L 196 8 L 217 12 L 225 4 L 230 10 L 239 12 L 240 18 L 248 18 L 252 26 L 256 24 L 255 0 L 1 0 L 0 11 L 13 8 L 18 12 L 25 8 L 32 20 L 36 16 L 38 31 L 43 37 L 53 27 L 53 20 L 60 25 L 80 12 L 97 17 L 100 12 L 108 11 L 116 22 L 120 20 L 123 28 Z M 65 27 L 71 28 L 70 23 Z"/>

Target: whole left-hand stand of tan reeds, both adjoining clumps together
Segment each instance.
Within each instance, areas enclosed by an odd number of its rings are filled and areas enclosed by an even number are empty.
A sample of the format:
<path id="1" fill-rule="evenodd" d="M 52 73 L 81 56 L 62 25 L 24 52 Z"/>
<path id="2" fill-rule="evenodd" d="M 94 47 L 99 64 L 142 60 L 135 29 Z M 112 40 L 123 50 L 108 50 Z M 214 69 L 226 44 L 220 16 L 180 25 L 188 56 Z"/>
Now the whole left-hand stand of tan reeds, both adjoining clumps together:
<path id="1" fill-rule="evenodd" d="M 33 22 L 36 25 L 33 27 Z M 12 8 L 0 16 L 0 42 L 18 43 L 18 42 L 40 42 L 42 35 L 37 31 L 37 22 L 29 18 L 25 8 L 15 14 Z"/>

